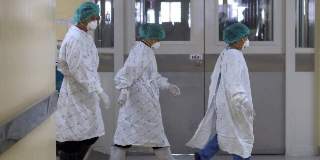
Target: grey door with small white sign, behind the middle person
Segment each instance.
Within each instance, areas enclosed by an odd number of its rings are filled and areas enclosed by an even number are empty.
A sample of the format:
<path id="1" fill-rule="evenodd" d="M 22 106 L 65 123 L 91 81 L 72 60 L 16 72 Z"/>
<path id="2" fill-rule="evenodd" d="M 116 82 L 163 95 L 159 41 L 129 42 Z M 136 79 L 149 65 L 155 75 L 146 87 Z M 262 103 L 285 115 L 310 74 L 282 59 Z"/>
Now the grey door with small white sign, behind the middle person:
<path id="1" fill-rule="evenodd" d="M 191 154 L 197 149 L 185 146 L 204 117 L 204 1 L 133 0 L 126 1 L 125 58 L 144 23 L 159 23 L 166 32 L 154 51 L 158 72 L 181 89 L 180 96 L 161 91 L 160 105 L 165 134 L 173 154 Z"/>

